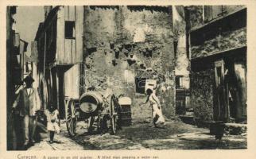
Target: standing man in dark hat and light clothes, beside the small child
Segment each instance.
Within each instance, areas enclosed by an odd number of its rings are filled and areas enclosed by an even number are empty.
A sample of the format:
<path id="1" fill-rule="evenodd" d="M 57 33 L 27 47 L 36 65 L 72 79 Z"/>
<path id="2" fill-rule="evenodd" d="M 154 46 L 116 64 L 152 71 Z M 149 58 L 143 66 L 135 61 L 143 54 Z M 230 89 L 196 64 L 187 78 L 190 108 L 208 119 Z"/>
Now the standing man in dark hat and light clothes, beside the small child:
<path id="1" fill-rule="evenodd" d="M 32 76 L 24 79 L 25 87 L 19 91 L 17 99 L 14 101 L 13 109 L 21 119 L 21 134 L 24 147 L 29 143 L 34 143 L 33 133 L 36 126 L 36 111 L 40 110 L 41 102 L 37 89 L 32 87 L 34 82 Z"/>

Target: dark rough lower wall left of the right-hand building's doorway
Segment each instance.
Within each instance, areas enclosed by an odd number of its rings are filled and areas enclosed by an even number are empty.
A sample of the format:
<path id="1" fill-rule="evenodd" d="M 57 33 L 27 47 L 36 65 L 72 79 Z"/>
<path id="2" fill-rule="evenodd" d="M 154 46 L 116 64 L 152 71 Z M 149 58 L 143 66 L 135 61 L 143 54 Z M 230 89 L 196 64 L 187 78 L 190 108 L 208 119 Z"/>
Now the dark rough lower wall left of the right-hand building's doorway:
<path id="1" fill-rule="evenodd" d="M 214 69 L 192 72 L 191 78 L 192 107 L 196 122 L 210 121 L 213 118 Z"/>

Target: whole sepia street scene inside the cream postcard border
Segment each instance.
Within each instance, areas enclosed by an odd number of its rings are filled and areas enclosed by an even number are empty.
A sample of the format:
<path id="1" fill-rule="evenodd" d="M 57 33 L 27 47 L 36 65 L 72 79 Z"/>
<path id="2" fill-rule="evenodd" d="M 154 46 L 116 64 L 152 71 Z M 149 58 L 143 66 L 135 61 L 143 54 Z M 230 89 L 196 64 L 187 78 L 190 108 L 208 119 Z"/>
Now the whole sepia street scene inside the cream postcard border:
<path id="1" fill-rule="evenodd" d="M 6 6 L 6 150 L 247 149 L 247 7 Z"/>

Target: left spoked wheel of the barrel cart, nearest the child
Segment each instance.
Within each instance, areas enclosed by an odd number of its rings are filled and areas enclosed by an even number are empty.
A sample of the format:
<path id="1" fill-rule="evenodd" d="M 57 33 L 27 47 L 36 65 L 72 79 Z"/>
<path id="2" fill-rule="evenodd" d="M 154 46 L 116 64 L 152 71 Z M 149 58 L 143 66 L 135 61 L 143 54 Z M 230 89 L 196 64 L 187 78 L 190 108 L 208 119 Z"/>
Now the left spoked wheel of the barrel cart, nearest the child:
<path id="1" fill-rule="evenodd" d="M 66 124 L 68 129 L 68 134 L 70 137 L 74 137 L 76 135 L 76 109 L 74 100 L 70 100 L 67 107 L 67 115 L 66 115 Z"/>

